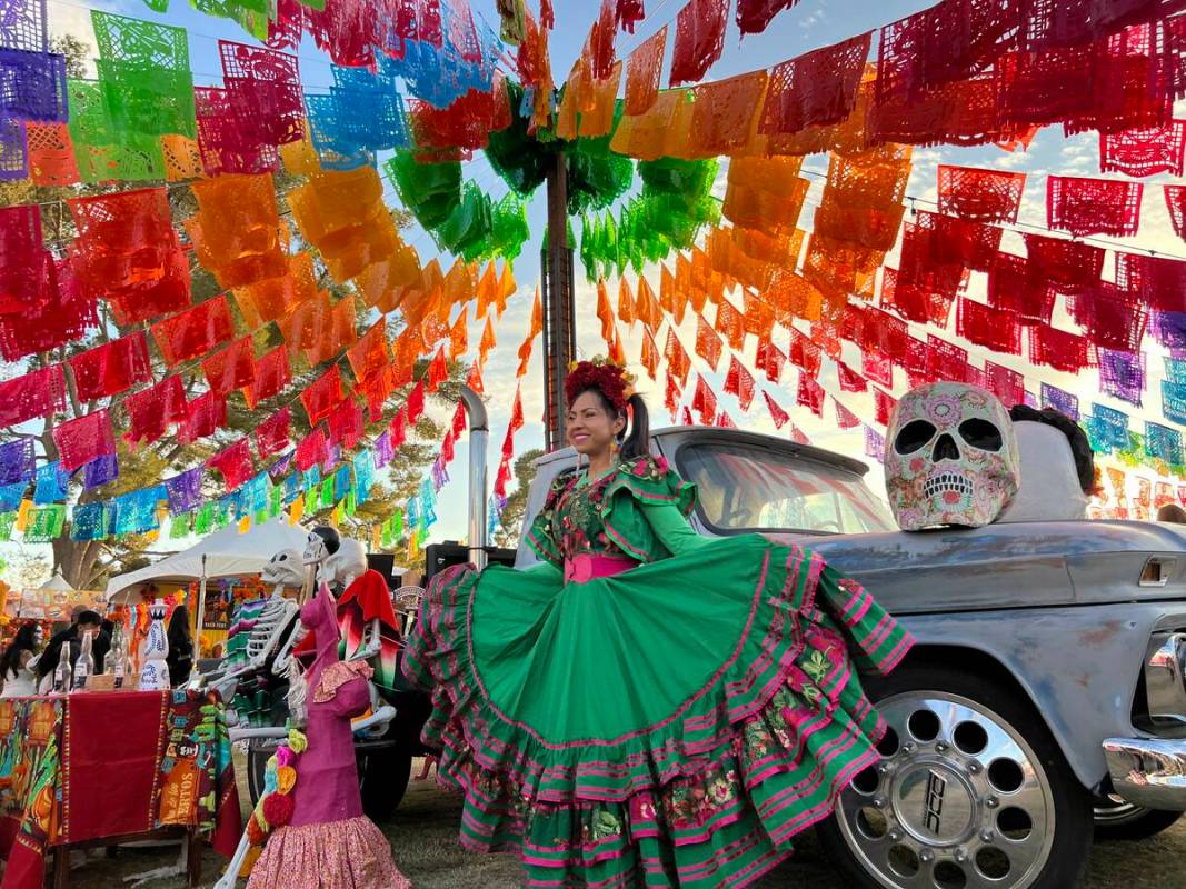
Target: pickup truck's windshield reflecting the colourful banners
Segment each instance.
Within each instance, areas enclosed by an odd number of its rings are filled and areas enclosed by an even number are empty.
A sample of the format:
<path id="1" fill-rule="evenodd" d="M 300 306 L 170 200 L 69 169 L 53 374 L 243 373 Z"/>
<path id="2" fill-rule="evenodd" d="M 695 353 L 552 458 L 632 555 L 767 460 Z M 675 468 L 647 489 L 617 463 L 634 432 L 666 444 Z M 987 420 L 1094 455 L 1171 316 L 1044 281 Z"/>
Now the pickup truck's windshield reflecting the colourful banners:
<path id="1" fill-rule="evenodd" d="M 700 487 L 703 518 L 716 531 L 818 533 L 892 531 L 888 507 L 856 473 L 746 444 L 689 444 L 681 474 Z"/>

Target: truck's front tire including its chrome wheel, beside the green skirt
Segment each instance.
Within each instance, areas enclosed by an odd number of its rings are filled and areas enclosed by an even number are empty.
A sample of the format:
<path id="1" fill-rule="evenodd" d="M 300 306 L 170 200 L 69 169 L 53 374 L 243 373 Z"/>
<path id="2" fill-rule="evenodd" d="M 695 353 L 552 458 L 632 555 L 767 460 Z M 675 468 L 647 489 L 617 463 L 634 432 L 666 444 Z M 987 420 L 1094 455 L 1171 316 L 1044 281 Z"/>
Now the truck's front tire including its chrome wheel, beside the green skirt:
<path id="1" fill-rule="evenodd" d="M 1091 800 L 1013 689 L 906 665 L 871 683 L 890 724 L 882 760 L 820 824 L 860 889 L 1071 889 L 1091 846 Z"/>

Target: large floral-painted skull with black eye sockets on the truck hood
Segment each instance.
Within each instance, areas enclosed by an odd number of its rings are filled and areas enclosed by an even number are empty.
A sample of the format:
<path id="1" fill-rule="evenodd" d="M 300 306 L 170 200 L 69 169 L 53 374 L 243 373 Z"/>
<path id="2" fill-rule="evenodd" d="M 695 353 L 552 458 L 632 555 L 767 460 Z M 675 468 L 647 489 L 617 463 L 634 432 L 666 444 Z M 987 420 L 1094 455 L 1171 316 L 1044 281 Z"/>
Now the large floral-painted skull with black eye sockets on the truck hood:
<path id="1" fill-rule="evenodd" d="M 991 392 L 963 383 L 912 389 L 890 418 L 885 471 L 904 531 L 987 525 L 1021 479 L 1009 414 Z"/>

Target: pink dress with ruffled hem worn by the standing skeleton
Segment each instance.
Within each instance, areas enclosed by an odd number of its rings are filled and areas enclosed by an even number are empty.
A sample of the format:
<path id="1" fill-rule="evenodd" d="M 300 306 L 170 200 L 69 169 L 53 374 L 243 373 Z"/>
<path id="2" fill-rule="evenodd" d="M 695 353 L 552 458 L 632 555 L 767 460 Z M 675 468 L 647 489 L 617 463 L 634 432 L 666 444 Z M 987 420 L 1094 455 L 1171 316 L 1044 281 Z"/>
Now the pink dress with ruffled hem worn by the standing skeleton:
<path id="1" fill-rule="evenodd" d="M 300 619 L 317 633 L 306 673 L 308 749 L 296 761 L 293 817 L 268 836 L 248 889 L 410 889 L 358 792 L 350 721 L 370 705 L 370 669 L 338 660 L 338 621 L 324 584 Z"/>

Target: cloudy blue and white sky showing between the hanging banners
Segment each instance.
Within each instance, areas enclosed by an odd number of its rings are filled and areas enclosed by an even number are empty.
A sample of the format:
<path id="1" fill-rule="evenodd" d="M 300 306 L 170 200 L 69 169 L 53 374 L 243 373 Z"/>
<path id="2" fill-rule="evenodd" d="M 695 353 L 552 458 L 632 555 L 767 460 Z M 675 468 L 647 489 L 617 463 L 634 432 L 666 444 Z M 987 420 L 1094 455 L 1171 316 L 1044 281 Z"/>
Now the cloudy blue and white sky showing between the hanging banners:
<path id="1" fill-rule="evenodd" d="M 529 0 L 533 8 L 537 8 L 536 0 Z M 210 85 L 219 83 L 219 64 L 217 57 L 217 39 L 249 39 L 246 38 L 232 23 L 205 17 L 193 11 L 184 0 L 173 0 L 167 13 L 158 14 L 149 11 L 142 4 L 133 4 L 120 0 L 119 2 L 95 2 L 93 6 L 119 12 L 122 14 L 145 18 L 166 24 L 180 25 L 190 32 L 190 52 L 192 57 L 192 69 L 195 71 L 195 83 L 198 85 Z M 580 51 L 588 28 L 600 6 L 598 0 L 554 0 L 556 8 L 556 30 L 551 38 L 553 70 L 557 81 L 562 81 L 569 70 L 576 53 Z M 788 58 L 798 56 L 808 50 L 824 46 L 830 43 L 852 37 L 867 30 L 878 28 L 898 18 L 908 15 L 930 4 L 918 0 L 802 0 L 793 9 L 782 13 L 774 19 L 771 27 L 759 36 L 751 36 L 740 39 L 737 26 L 729 23 L 729 31 L 726 38 L 725 55 L 720 62 L 708 72 L 709 79 L 727 77 L 745 71 L 770 68 Z M 636 34 L 618 36 L 618 55 L 625 57 L 631 50 L 638 46 L 645 38 L 658 31 L 664 25 L 672 25 L 670 33 L 674 36 L 674 23 L 677 12 L 683 6 L 682 0 L 646 0 L 648 18 L 639 26 Z M 497 26 L 497 17 L 493 13 L 493 0 L 474 0 L 473 8 L 482 12 L 486 19 Z M 89 9 L 72 0 L 49 0 L 49 13 L 51 30 L 55 33 L 72 33 L 93 45 L 90 30 Z M 874 36 L 874 47 L 876 39 Z M 327 58 L 320 53 L 312 43 L 306 39 L 300 51 L 301 75 L 306 89 L 317 91 L 327 89 L 331 83 L 331 75 Z M 670 62 L 670 37 L 668 49 L 668 62 Z M 664 77 L 665 83 L 665 77 Z M 382 160 L 382 158 L 381 158 Z M 1028 173 L 1029 180 L 1026 187 L 1025 200 L 1021 210 L 1021 222 L 1032 225 L 1045 224 L 1045 177 L 1047 173 L 1069 173 L 1078 175 L 1099 174 L 1098 142 L 1093 134 L 1085 134 L 1065 139 L 1061 129 L 1051 127 L 1042 130 L 1029 151 L 1026 153 L 1008 154 L 995 147 L 986 148 L 954 148 L 939 147 L 926 148 L 914 152 L 913 174 L 907 188 L 908 194 L 916 198 L 918 209 L 931 209 L 930 204 L 936 197 L 936 165 L 940 162 L 958 164 L 967 166 L 996 167 Z M 810 156 L 804 162 L 806 172 L 827 172 L 827 159 L 822 155 Z M 490 166 L 482 158 L 480 153 L 467 164 L 463 171 L 466 179 L 477 181 L 493 198 L 502 197 L 506 186 L 498 179 Z M 725 175 L 727 162 L 722 162 L 716 183 L 716 193 L 723 194 Z M 1163 177 L 1146 179 L 1144 203 L 1142 207 L 1141 232 L 1137 237 L 1129 238 L 1123 243 L 1128 249 L 1154 249 L 1162 254 L 1186 257 L 1186 245 L 1174 235 L 1166 207 L 1161 197 L 1161 183 L 1168 181 Z M 818 205 L 822 183 L 818 177 L 812 177 L 812 187 L 808 196 L 806 205 L 799 219 L 799 226 L 810 230 L 811 218 L 815 206 Z M 491 354 L 485 373 L 486 391 L 490 395 L 491 409 L 491 473 L 498 458 L 498 444 L 506 428 L 511 396 L 514 394 L 515 380 L 514 369 L 517 364 L 515 350 L 522 340 L 528 325 L 528 316 L 531 305 L 531 294 L 538 279 L 538 250 L 540 236 L 543 231 L 544 207 L 543 190 L 534 196 L 529 206 L 529 219 L 531 222 L 533 239 L 525 245 L 523 255 L 515 266 L 515 276 L 519 289 L 512 298 L 506 314 L 499 321 L 496 332 L 499 347 Z M 393 205 L 398 199 L 394 188 L 387 185 L 385 198 Z M 579 230 L 579 225 L 576 226 Z M 435 248 L 429 237 L 419 229 L 413 229 L 407 234 L 407 238 L 420 251 L 422 260 L 427 261 L 435 254 Z M 1012 252 L 1024 254 L 1021 238 L 1016 234 L 1006 234 L 1002 249 Z M 890 263 L 897 264 L 897 252 L 890 256 Z M 1111 263 L 1105 266 L 1105 275 L 1111 274 Z M 584 276 L 578 273 L 578 277 Z M 648 271 L 648 279 L 655 289 L 658 289 L 657 270 Z M 631 283 L 636 283 L 633 280 Z M 984 293 L 984 276 L 974 273 L 969 293 L 980 296 Z M 611 293 L 617 294 L 617 282 L 611 282 Z M 605 345 L 599 335 L 599 324 L 594 316 L 595 292 L 593 284 L 584 280 L 578 284 L 578 351 L 581 356 L 588 357 L 605 351 Z M 1090 409 L 1091 402 L 1109 404 L 1134 416 L 1137 421 L 1153 420 L 1166 422 L 1160 416 L 1159 380 L 1161 379 L 1161 358 L 1158 347 L 1149 343 L 1149 382 L 1148 392 L 1152 396 L 1146 398 L 1143 409 L 1133 408 L 1122 402 L 1114 402 L 1099 394 L 1098 380 L 1095 372 L 1083 376 L 1069 376 L 1041 369 L 1040 371 L 1027 365 L 1025 362 L 1010 359 L 1008 357 L 995 356 L 986 350 L 973 346 L 959 340 L 954 332 L 955 313 L 952 313 L 951 328 L 944 334 L 946 339 L 967 346 L 969 359 L 974 364 L 982 364 L 984 358 L 999 364 L 1005 364 L 1026 375 L 1026 386 L 1037 391 L 1040 383 L 1046 382 L 1061 389 L 1076 392 L 1080 397 L 1083 409 Z M 1056 315 L 1056 325 L 1067 326 L 1065 315 Z M 482 328 L 476 322 L 471 330 L 471 343 L 477 344 Z M 918 335 L 919 331 L 912 331 Z M 640 350 L 638 327 L 633 332 L 624 331 L 626 353 L 631 359 L 637 360 Z M 694 330 L 689 326 L 678 331 L 681 339 L 689 351 L 694 343 Z M 924 334 L 925 335 L 925 334 Z M 783 334 L 785 338 L 785 333 Z M 752 339 L 752 338 L 751 338 Z M 776 340 L 777 341 L 777 340 Z M 785 347 L 786 343 L 777 341 Z M 662 341 L 659 343 L 662 348 Z M 746 357 L 752 358 L 753 344 L 748 344 Z M 850 344 L 844 344 L 844 359 L 853 367 L 860 367 L 860 356 Z M 702 370 L 699 359 L 694 357 L 694 371 Z M 727 366 L 721 364 L 721 371 Z M 649 396 L 652 410 L 662 411 L 662 391 L 655 390 L 650 380 L 640 367 L 635 369 L 642 378 L 640 389 Z M 714 383 L 714 389 L 720 394 L 721 376 L 709 375 Z M 904 375 L 897 375 L 894 396 L 900 396 L 905 388 Z M 659 379 L 662 380 L 662 373 Z M 839 431 L 835 427 L 835 414 L 830 403 L 824 411 L 824 417 L 817 420 L 815 416 L 801 408 L 792 408 L 795 403 L 796 375 L 792 370 L 784 373 L 778 385 L 766 384 L 771 395 L 789 409 L 793 422 L 803 429 L 814 443 L 835 449 L 854 456 L 863 458 L 865 439 L 860 428 L 852 431 Z M 873 420 L 873 402 L 869 395 L 854 396 L 841 394 L 836 384 L 835 366 L 830 362 L 824 362 L 821 376 L 829 396 L 841 396 L 842 402 L 865 422 Z M 648 389 L 652 391 L 648 391 Z M 689 388 L 690 389 L 690 388 Z M 542 364 L 540 345 L 536 344 L 533 354 L 530 373 L 524 382 L 524 412 L 528 426 L 517 439 L 516 444 L 519 450 L 529 447 L 538 447 L 542 443 L 541 415 L 543 404 L 542 390 Z M 689 402 L 691 392 L 687 395 Z M 732 396 L 720 394 L 720 407 L 727 410 L 739 426 L 746 428 L 771 431 L 773 424 L 769 420 L 760 395 L 754 399 L 748 415 L 744 415 Z M 662 424 L 662 423 L 659 423 Z M 1134 423 L 1134 428 L 1142 428 L 1143 422 Z M 785 430 L 784 430 L 785 434 Z M 464 467 L 466 466 L 466 443 L 458 448 L 457 461 L 453 463 L 453 481 L 441 493 L 438 513 L 441 517 L 440 525 L 435 529 L 433 537 L 457 538 L 464 533 L 465 529 L 465 479 Z M 879 467 L 874 467 L 871 473 L 871 485 L 880 491 L 881 480 Z M 162 541 L 162 544 L 165 542 Z"/>

